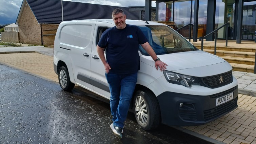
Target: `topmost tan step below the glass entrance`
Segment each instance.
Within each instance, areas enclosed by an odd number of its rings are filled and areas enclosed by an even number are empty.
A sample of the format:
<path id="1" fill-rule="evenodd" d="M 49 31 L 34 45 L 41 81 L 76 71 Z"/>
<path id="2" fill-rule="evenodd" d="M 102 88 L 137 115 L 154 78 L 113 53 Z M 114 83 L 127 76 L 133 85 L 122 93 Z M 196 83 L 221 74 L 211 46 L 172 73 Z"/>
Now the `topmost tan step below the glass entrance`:
<path id="1" fill-rule="evenodd" d="M 198 49 L 201 49 L 201 45 L 195 45 Z M 204 49 L 213 49 L 214 46 L 203 46 Z M 237 51 L 237 52 L 254 52 L 255 53 L 256 48 L 250 48 L 250 47 L 222 47 L 222 46 L 216 46 L 216 50 L 227 50 L 227 51 Z"/>

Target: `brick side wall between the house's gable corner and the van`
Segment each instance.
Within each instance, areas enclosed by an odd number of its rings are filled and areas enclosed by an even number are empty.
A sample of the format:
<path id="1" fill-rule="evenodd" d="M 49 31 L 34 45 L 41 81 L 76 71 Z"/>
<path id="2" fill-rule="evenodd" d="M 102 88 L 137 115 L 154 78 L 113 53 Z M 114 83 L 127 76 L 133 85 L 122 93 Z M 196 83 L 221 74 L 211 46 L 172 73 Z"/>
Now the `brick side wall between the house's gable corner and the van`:
<path id="1" fill-rule="evenodd" d="M 58 26 L 59 24 L 43 24 L 42 25 L 42 34 L 46 35 L 46 36 L 43 36 L 43 45 L 53 48 L 55 34 L 57 32 Z"/>

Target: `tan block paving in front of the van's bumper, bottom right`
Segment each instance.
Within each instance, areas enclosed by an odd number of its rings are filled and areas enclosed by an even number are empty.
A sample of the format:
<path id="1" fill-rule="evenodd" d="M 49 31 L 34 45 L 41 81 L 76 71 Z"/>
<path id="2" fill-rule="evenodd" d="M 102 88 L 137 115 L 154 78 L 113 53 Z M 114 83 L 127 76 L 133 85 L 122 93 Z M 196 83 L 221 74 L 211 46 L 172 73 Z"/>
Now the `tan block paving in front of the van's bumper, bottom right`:
<path id="1" fill-rule="evenodd" d="M 226 144 L 256 144 L 256 97 L 238 95 L 238 108 L 200 126 L 182 127 Z"/>

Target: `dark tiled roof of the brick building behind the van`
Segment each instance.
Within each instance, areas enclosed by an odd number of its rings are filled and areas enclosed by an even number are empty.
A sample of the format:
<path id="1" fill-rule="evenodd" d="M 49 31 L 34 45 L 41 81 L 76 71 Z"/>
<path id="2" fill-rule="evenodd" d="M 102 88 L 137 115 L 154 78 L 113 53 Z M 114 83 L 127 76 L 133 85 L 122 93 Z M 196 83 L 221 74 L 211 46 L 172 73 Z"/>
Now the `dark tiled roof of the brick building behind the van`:
<path id="1" fill-rule="evenodd" d="M 59 24 L 62 22 L 61 0 L 26 0 L 28 6 L 34 13 L 38 23 Z M 121 8 L 127 19 L 139 20 L 138 11 L 129 11 L 128 7 L 110 5 L 90 4 L 72 1 L 62 1 L 64 21 L 79 19 L 108 19 L 112 18 L 115 8 Z M 18 24 L 24 7 L 22 2 L 19 15 L 16 20 Z"/>

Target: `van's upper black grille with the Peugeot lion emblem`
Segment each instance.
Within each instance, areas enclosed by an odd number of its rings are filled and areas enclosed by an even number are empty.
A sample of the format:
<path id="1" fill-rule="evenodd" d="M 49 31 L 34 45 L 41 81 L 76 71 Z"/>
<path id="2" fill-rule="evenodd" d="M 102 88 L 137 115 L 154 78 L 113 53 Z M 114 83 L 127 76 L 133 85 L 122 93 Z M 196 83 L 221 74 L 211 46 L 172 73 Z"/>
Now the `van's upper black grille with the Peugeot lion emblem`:
<path id="1" fill-rule="evenodd" d="M 210 88 L 217 88 L 223 85 L 227 85 L 233 82 L 232 79 L 232 70 L 228 71 L 227 73 L 210 76 L 210 77 L 203 77 L 203 83 Z"/>

